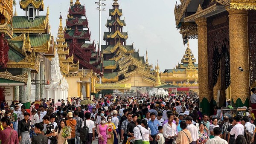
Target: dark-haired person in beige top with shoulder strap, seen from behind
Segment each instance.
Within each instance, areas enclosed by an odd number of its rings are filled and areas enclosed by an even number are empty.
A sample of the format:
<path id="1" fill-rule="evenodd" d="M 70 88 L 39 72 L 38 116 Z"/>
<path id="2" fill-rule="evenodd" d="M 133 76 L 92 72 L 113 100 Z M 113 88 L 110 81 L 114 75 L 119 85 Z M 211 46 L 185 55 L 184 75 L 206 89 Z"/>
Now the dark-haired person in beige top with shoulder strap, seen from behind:
<path id="1" fill-rule="evenodd" d="M 192 142 L 192 137 L 189 130 L 186 129 L 186 121 L 180 122 L 180 128 L 182 130 L 178 133 L 178 137 L 176 139 L 177 144 L 189 144 Z"/>

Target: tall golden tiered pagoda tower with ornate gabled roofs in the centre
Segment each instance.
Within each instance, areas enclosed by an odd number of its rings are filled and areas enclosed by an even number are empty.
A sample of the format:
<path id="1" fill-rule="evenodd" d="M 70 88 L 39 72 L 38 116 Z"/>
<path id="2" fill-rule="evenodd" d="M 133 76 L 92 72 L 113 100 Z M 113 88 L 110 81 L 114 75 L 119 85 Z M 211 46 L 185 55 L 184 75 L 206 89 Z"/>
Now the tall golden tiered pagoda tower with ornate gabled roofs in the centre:
<path id="1" fill-rule="evenodd" d="M 122 9 L 117 1 L 114 0 L 109 9 L 111 19 L 107 20 L 108 32 L 103 36 L 106 44 L 102 45 L 102 83 L 156 86 L 156 74 L 152 65 L 148 65 L 148 58 L 145 62 L 139 49 L 136 51 L 133 45 L 126 45 L 128 32 L 123 32 L 126 23 L 121 19 Z"/>

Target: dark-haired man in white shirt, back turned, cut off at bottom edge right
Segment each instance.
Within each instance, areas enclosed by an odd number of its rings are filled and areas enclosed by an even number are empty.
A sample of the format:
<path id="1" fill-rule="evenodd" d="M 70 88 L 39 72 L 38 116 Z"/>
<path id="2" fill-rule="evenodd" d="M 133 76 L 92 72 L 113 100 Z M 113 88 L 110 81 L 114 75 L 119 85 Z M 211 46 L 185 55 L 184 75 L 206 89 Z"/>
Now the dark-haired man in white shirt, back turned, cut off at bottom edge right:
<path id="1" fill-rule="evenodd" d="M 215 127 L 213 129 L 214 138 L 208 139 L 205 144 L 228 144 L 227 141 L 221 138 L 221 128 Z"/>

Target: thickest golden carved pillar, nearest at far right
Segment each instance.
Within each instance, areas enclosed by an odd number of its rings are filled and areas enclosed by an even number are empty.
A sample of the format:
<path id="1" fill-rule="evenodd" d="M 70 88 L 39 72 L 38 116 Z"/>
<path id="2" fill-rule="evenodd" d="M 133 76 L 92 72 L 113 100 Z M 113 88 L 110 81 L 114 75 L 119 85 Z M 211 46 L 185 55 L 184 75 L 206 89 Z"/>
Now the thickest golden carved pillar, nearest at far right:
<path id="1" fill-rule="evenodd" d="M 249 106 L 248 23 L 246 10 L 228 10 L 230 29 L 230 94 L 236 107 Z"/>

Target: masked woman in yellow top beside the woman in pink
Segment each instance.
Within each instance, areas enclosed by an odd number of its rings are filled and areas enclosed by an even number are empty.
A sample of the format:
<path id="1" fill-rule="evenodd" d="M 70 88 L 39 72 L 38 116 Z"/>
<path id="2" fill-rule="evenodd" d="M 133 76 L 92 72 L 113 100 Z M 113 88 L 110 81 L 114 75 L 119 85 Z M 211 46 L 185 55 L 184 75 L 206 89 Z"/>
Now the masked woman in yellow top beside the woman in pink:
<path id="1" fill-rule="evenodd" d="M 111 115 L 108 115 L 108 122 L 106 124 L 108 126 L 108 141 L 107 141 L 107 144 L 113 144 L 113 142 L 114 142 L 113 132 L 115 132 L 115 135 L 116 135 L 115 138 L 118 138 L 118 135 L 116 133 L 116 126 L 111 121 L 112 121 Z"/>

